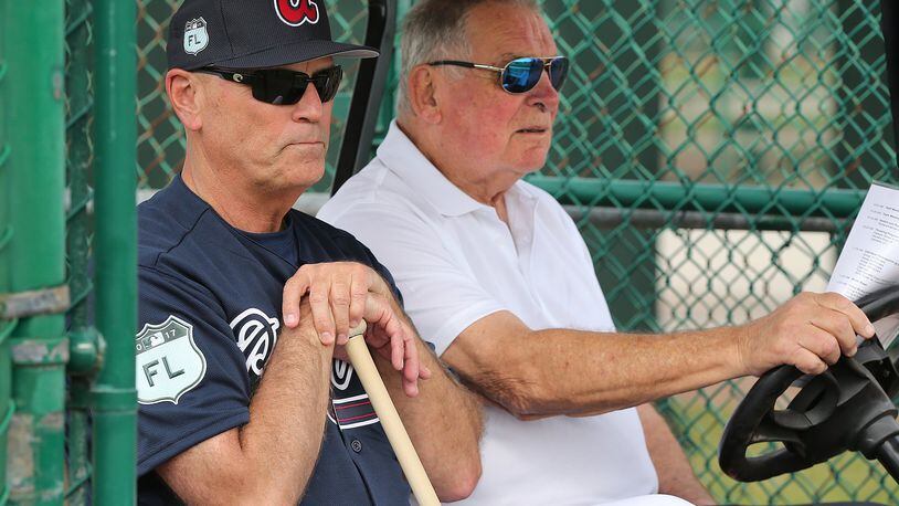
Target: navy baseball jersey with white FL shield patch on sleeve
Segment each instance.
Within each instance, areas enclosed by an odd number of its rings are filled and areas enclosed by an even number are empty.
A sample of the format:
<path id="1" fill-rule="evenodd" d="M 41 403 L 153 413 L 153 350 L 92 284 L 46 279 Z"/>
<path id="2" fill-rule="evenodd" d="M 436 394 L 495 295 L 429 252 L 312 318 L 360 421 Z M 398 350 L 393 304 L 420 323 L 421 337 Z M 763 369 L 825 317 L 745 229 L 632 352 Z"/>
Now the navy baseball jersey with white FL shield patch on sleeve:
<path id="1" fill-rule="evenodd" d="M 299 265 L 356 261 L 395 285 L 349 233 L 295 210 L 282 232 L 241 232 L 180 177 L 140 204 L 138 218 L 138 493 L 141 504 L 170 504 L 154 470 L 248 422 L 282 326 L 284 283 Z M 352 367 L 335 360 L 331 387 L 303 504 L 406 503 L 409 485 Z"/>

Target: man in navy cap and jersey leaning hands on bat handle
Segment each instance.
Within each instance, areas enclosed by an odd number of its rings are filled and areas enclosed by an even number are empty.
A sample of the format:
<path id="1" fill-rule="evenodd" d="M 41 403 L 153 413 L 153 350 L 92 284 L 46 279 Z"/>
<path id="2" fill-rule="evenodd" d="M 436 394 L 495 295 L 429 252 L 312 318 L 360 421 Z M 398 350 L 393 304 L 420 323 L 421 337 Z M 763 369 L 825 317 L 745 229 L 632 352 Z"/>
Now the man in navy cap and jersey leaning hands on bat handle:
<path id="1" fill-rule="evenodd" d="M 478 479 L 479 403 L 415 336 L 390 273 L 292 210 L 324 173 L 335 56 L 377 52 L 334 42 L 321 1 L 188 0 L 171 20 L 166 91 L 187 154 L 139 207 L 141 504 L 406 502 L 341 360 L 363 319 L 438 496 L 463 498 Z M 288 280 L 307 295 L 282 314 Z M 313 326 L 322 305 L 335 334 Z"/>

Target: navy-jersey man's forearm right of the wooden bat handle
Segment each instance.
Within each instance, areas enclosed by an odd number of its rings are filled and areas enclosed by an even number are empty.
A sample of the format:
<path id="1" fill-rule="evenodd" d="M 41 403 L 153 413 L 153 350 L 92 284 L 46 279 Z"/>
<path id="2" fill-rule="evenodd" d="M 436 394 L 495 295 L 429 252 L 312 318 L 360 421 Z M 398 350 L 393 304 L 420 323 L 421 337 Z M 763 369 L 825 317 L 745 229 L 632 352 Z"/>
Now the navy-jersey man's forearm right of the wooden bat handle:
<path id="1" fill-rule="evenodd" d="M 480 401 L 450 376 L 427 345 L 421 339 L 416 344 L 422 363 L 432 371 L 431 379 L 420 382 L 417 397 L 403 392 L 387 360 L 377 357 L 376 363 L 441 500 L 458 500 L 480 477 Z"/>

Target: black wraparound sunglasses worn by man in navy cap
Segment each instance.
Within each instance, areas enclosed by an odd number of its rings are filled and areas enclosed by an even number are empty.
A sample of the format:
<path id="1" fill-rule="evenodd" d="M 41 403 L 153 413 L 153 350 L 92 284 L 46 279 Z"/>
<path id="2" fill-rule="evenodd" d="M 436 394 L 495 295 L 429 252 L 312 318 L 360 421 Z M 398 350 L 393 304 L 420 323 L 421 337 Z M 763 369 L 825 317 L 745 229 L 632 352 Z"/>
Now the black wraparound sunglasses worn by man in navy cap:
<path id="1" fill-rule="evenodd" d="M 311 76 L 305 72 L 286 68 L 256 68 L 235 71 L 218 67 L 204 67 L 197 72 L 214 74 L 233 83 L 245 84 L 253 88 L 253 98 L 273 105 L 293 105 L 303 98 L 306 86 L 313 83 L 321 103 L 337 95 L 343 71 L 340 65 L 322 68 Z"/>

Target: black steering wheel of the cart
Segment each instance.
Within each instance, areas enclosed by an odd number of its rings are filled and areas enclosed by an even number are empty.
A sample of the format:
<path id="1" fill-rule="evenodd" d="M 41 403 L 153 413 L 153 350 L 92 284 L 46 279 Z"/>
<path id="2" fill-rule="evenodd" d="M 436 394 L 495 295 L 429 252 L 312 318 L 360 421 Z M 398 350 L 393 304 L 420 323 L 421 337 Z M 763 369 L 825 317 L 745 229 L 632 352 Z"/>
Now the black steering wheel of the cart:
<path id="1" fill-rule="evenodd" d="M 899 286 L 867 295 L 856 305 L 878 336 L 899 334 Z M 840 357 L 818 376 L 792 366 L 765 372 L 725 428 L 718 452 L 721 470 L 734 479 L 757 482 L 857 451 L 880 461 L 899 482 L 899 423 L 891 401 L 899 393 L 897 358 L 872 338 L 859 345 L 855 357 Z M 785 409 L 775 408 L 790 387 L 800 390 Z M 770 442 L 780 447 L 747 455 L 751 445 Z"/>

